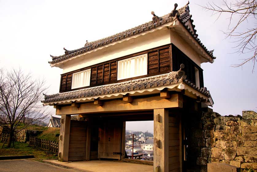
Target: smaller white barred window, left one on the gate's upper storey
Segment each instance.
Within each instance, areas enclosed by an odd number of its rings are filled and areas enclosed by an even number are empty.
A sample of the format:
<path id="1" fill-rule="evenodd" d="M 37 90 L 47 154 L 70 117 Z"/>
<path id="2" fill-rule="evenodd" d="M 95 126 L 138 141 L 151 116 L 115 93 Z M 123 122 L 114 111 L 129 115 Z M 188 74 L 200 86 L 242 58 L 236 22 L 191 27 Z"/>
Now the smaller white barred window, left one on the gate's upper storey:
<path id="1" fill-rule="evenodd" d="M 72 74 L 71 89 L 80 88 L 90 85 L 91 69 L 80 71 Z"/>

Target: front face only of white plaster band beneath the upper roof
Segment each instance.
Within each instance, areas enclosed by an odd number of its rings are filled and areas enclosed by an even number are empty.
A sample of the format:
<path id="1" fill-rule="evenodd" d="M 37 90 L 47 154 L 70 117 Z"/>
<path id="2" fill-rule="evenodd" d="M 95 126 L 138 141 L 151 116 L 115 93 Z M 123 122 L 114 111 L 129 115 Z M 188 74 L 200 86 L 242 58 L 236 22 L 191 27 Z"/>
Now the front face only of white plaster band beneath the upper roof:
<path id="1" fill-rule="evenodd" d="M 170 43 L 170 31 L 163 28 L 70 60 L 63 64 L 63 73 Z"/>

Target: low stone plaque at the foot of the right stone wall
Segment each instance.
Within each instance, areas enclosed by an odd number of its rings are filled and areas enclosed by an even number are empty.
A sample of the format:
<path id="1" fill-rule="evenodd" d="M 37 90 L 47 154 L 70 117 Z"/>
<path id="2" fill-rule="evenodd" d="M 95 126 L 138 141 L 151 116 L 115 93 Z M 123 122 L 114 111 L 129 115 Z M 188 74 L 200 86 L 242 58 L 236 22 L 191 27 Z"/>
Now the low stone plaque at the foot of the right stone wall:
<path id="1" fill-rule="evenodd" d="M 240 172 L 240 168 L 225 163 L 208 163 L 208 172 Z"/>

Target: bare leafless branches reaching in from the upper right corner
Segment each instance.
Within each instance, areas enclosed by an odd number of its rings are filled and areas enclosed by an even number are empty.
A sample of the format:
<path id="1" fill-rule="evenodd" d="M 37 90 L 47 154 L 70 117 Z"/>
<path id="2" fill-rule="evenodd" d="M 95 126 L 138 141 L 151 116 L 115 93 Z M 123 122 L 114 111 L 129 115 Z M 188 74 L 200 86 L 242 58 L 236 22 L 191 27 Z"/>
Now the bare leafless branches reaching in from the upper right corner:
<path id="1" fill-rule="evenodd" d="M 257 0 L 234 0 L 228 3 L 226 0 L 223 0 L 223 5 L 218 6 L 217 4 L 207 3 L 205 6 L 201 6 L 205 10 L 212 11 L 212 15 L 218 14 L 218 17 L 215 21 L 217 21 L 223 13 L 230 13 L 229 23 L 228 23 L 228 32 L 223 32 L 226 35 L 226 38 L 233 38 L 236 46 L 234 53 L 238 54 L 247 54 L 248 58 L 241 59 L 242 62 L 240 64 L 233 64 L 232 67 L 240 67 L 245 63 L 252 61 L 254 71 L 255 62 L 257 62 L 257 45 L 255 43 L 257 27 L 254 23 L 248 22 L 249 19 L 256 19 L 256 7 Z M 238 18 L 236 21 L 236 25 L 230 28 L 232 25 L 233 17 Z M 247 22 L 252 29 L 247 29 L 242 26 L 244 22 Z M 237 30 L 243 30 L 243 32 L 238 32 Z"/>

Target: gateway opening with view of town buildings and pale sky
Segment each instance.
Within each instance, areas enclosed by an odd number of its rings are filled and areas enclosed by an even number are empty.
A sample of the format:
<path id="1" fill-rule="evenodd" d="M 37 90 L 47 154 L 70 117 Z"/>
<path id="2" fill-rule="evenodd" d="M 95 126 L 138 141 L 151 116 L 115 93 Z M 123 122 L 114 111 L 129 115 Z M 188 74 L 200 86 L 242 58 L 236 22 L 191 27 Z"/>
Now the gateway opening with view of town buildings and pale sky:
<path id="1" fill-rule="evenodd" d="M 153 121 L 126 121 L 125 158 L 153 161 Z"/>

